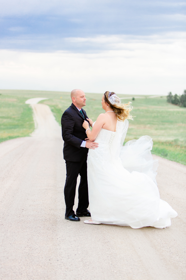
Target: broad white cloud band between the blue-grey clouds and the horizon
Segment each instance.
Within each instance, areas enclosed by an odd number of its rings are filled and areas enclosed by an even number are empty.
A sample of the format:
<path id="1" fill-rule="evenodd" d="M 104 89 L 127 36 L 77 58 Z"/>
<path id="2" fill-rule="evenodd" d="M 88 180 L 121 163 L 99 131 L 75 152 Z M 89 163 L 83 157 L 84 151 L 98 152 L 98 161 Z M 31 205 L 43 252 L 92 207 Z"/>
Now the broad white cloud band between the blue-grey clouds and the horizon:
<path id="1" fill-rule="evenodd" d="M 94 54 L 0 50 L 1 88 L 82 88 L 85 92 L 112 90 L 135 95 L 182 93 L 186 88 L 184 35 L 69 39 L 113 44 L 112 50 Z"/>

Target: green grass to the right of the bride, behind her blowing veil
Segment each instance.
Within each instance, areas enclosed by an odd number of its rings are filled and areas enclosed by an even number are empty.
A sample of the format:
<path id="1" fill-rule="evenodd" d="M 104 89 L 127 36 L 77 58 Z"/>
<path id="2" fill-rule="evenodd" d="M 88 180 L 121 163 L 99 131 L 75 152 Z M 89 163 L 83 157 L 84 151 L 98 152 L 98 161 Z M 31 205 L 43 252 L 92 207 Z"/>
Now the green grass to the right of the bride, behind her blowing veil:
<path id="1" fill-rule="evenodd" d="M 186 108 L 167 103 L 166 97 L 136 99 L 133 106 L 136 117 L 126 141 L 149 135 L 152 153 L 186 165 Z"/>

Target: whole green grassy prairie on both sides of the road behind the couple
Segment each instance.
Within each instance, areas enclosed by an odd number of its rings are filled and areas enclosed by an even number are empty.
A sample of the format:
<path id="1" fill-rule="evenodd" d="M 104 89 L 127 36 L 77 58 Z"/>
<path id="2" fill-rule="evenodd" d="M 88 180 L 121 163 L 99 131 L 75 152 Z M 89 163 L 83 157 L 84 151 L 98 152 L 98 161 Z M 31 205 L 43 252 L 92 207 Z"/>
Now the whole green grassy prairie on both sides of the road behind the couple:
<path id="1" fill-rule="evenodd" d="M 32 97 L 49 98 L 40 103 L 50 106 L 59 123 L 62 113 L 71 104 L 67 92 L 10 90 L 0 91 L 0 94 L 0 141 L 27 136 L 33 131 L 32 111 L 24 104 L 25 100 Z M 126 98 L 126 95 L 119 96 Z M 101 97 L 101 94 L 86 94 L 87 105 L 84 109 L 94 121 L 104 112 Z M 154 154 L 186 165 L 186 108 L 167 103 L 166 97 L 141 97 L 132 101 L 132 96 L 128 95 L 128 99 L 122 100 L 124 103 L 133 102 L 132 115 L 135 116 L 134 121 L 129 121 L 126 141 L 149 135 L 153 138 Z"/>

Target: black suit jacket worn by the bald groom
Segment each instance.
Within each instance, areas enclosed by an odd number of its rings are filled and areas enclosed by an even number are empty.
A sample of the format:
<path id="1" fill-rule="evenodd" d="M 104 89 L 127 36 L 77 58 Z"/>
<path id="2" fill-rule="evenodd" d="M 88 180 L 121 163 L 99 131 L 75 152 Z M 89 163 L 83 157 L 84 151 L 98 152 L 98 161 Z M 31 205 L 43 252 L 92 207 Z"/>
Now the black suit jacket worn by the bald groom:
<path id="1" fill-rule="evenodd" d="M 85 110 L 82 112 L 87 118 Z M 61 117 L 62 137 L 64 140 L 63 156 L 66 161 L 82 161 L 87 157 L 88 148 L 80 147 L 87 138 L 82 127 L 84 118 L 73 103 Z"/>

